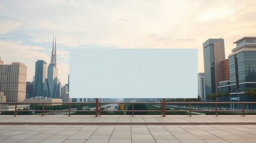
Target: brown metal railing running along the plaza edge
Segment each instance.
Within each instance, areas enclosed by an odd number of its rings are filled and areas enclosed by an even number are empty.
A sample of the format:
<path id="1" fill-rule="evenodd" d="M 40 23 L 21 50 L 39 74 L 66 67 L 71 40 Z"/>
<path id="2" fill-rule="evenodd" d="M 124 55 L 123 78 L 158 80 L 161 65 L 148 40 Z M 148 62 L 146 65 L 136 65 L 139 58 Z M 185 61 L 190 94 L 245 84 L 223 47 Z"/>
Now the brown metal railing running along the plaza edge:
<path id="1" fill-rule="evenodd" d="M 245 116 L 245 112 L 250 112 L 250 111 L 256 111 L 256 110 L 245 110 L 245 105 L 250 105 L 250 104 L 255 104 L 256 102 L 165 102 L 163 99 L 162 102 L 99 102 L 96 100 L 96 102 L 0 102 L 0 105 L 3 104 L 8 104 L 8 105 L 15 105 L 14 111 L 7 111 L 7 110 L 0 110 L 0 113 L 5 111 L 5 112 L 14 112 L 14 116 L 17 116 L 17 112 L 41 112 L 41 116 L 45 116 L 46 112 L 54 112 L 54 111 L 62 111 L 62 112 L 68 112 L 68 116 L 71 116 L 71 112 L 95 112 L 95 116 L 101 116 L 101 112 L 130 112 L 132 116 L 134 116 L 135 112 L 161 112 L 161 116 L 165 116 L 167 112 L 183 112 L 186 111 L 189 113 L 189 116 L 192 116 L 192 113 L 194 112 L 215 112 L 215 116 L 218 116 L 219 111 L 232 111 L 232 112 L 239 112 L 242 114 L 242 116 Z M 42 110 L 17 110 L 17 105 L 19 104 L 41 104 L 42 105 Z M 45 105 L 49 104 L 68 104 L 68 109 L 67 110 L 45 110 Z M 95 105 L 95 110 L 72 110 L 71 104 L 94 104 Z M 101 105 L 102 104 L 131 104 L 132 105 L 132 110 L 101 110 Z M 134 110 L 134 105 L 135 104 L 154 104 L 159 107 L 161 107 L 161 110 Z M 193 105 L 208 105 L 208 110 L 194 110 L 192 108 L 195 108 Z M 213 108 L 209 110 L 209 104 L 213 105 Z M 237 107 L 242 106 L 240 110 L 219 110 L 218 105 L 221 104 L 237 104 Z M 188 110 L 166 110 L 166 108 L 171 108 L 175 105 L 185 105 Z M 168 107 L 167 107 L 168 106 Z M 206 108 L 206 107 L 204 107 Z M 177 109 L 177 108 L 176 108 Z"/>

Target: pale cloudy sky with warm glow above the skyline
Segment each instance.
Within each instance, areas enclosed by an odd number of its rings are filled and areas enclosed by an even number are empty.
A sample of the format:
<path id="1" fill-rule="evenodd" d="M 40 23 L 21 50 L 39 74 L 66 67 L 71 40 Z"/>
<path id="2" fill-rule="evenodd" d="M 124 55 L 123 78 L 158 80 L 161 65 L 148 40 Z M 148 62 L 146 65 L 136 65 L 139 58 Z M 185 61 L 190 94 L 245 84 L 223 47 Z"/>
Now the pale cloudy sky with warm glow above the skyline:
<path id="1" fill-rule="evenodd" d="M 224 38 L 225 55 L 234 41 L 256 36 L 255 0 L 0 0 L 0 57 L 22 62 L 32 81 L 35 61 L 50 63 L 56 35 L 57 66 L 68 82 L 71 48 L 198 48 L 203 72 L 203 42 Z"/>

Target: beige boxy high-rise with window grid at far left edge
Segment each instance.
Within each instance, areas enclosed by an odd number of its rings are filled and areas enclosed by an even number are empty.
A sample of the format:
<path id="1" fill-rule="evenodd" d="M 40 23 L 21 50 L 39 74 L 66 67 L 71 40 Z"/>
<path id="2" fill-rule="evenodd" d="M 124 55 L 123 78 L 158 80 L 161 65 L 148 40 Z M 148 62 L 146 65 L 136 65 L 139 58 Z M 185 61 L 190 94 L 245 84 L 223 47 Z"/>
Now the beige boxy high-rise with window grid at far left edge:
<path id="1" fill-rule="evenodd" d="M 0 64 L 0 91 L 7 102 L 23 102 L 26 96 L 26 70 L 23 63 Z"/>

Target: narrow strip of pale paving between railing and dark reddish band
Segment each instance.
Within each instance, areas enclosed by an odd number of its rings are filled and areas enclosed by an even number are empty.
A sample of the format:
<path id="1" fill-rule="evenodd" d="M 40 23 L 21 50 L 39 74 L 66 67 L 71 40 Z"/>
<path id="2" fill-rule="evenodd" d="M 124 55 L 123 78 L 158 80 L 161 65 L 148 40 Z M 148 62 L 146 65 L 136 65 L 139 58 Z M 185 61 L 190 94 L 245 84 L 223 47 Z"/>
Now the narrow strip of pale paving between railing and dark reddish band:
<path id="1" fill-rule="evenodd" d="M 135 115 L 132 116 L 115 116 L 104 115 L 100 117 L 95 116 L 0 116 L 1 123 L 256 123 L 256 115 L 249 116 L 234 116 L 234 115 L 220 115 L 220 116 L 205 116 L 205 115 L 168 115 L 161 117 L 159 115 Z"/>

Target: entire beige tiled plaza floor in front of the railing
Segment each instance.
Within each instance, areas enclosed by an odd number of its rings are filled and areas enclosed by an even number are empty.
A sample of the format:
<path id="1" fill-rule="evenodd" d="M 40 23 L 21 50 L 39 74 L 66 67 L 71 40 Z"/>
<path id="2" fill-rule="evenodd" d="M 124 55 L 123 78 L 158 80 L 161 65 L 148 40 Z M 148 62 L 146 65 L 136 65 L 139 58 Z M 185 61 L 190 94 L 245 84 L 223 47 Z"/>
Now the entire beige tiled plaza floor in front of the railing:
<path id="1" fill-rule="evenodd" d="M 0 142 L 247 143 L 256 116 L 0 116 Z"/>

